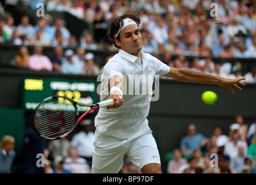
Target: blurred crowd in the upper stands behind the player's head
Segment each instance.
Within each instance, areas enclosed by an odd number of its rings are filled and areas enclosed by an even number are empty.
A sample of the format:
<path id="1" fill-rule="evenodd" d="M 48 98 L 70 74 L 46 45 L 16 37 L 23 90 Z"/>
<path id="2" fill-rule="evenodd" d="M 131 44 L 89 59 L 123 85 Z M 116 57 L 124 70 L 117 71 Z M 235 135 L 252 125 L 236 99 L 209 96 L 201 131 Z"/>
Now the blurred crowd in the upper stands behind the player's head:
<path id="1" fill-rule="evenodd" d="M 30 24 L 28 16 L 21 17 L 20 23 L 14 25 L 12 15 L 4 11 L 10 5 L 37 10 L 38 3 L 43 3 L 46 11 L 69 12 L 85 20 L 93 25 L 94 32 L 86 32 L 77 38 L 65 26 L 65 20 L 53 20 L 49 14 L 36 25 Z M 107 36 L 108 20 L 131 11 L 141 17 L 142 51 L 176 68 L 195 68 L 224 77 L 246 76 L 246 83 L 256 82 L 254 62 L 242 74 L 243 66 L 239 61 L 226 64 L 210 61 L 213 57 L 255 57 L 256 1 L 253 0 L 13 0 L 5 1 L 1 6 L 0 43 L 61 46 L 73 51 L 78 47 L 115 51 Z M 165 54 L 167 56 L 161 58 Z M 174 60 L 171 56 L 181 57 Z M 181 60 L 183 56 L 198 58 L 188 64 Z"/>

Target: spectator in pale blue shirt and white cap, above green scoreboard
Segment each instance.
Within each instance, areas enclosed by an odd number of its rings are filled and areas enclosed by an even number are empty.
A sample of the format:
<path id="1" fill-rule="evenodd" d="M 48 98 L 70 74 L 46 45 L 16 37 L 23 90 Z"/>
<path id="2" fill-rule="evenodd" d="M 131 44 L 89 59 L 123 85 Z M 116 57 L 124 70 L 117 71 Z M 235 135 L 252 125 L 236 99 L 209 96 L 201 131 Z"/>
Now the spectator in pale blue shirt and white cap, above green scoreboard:
<path id="1" fill-rule="evenodd" d="M 65 74 L 81 75 L 83 73 L 83 66 L 80 61 L 74 60 L 74 51 L 68 49 L 64 53 L 63 62 L 61 64 L 61 71 Z"/>

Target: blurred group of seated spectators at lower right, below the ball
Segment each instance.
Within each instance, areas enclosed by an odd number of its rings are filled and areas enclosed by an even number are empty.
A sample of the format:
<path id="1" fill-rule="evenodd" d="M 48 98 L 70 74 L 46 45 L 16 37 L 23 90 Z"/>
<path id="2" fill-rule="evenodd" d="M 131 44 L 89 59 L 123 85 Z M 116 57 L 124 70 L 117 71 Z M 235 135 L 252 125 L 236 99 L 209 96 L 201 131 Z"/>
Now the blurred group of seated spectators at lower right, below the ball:
<path id="1" fill-rule="evenodd" d="M 167 173 L 256 173 L 256 117 L 244 123 L 238 114 L 224 134 L 215 125 L 212 134 L 198 132 L 196 124 L 187 126 L 179 146 L 166 155 Z"/>

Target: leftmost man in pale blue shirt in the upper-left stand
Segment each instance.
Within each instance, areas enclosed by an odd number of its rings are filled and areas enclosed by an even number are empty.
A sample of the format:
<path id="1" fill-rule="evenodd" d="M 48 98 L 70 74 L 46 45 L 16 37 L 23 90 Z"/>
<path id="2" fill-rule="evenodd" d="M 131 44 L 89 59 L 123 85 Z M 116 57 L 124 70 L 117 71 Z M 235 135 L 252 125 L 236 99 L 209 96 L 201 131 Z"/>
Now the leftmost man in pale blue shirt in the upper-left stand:
<path id="1" fill-rule="evenodd" d="M 35 28 L 30 24 L 30 17 L 22 16 L 17 29 L 20 35 L 26 35 L 28 40 L 35 38 Z"/>

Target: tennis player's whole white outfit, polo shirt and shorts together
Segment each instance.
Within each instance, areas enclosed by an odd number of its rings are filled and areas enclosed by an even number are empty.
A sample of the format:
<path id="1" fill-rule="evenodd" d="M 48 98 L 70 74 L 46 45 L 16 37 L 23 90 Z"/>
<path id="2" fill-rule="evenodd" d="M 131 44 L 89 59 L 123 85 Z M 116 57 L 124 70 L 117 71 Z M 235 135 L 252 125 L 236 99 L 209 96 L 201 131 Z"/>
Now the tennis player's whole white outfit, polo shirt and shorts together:
<path id="1" fill-rule="evenodd" d="M 151 54 L 140 52 L 142 64 L 139 57 L 119 50 L 104 66 L 101 101 L 109 97 L 109 79 L 119 75 L 123 78 L 123 103 L 116 109 L 98 110 L 94 121 L 92 173 L 118 173 L 125 154 L 139 171 L 144 165 L 160 164 L 158 147 L 148 127 L 147 116 L 153 77 L 167 74 L 170 67 Z"/>

